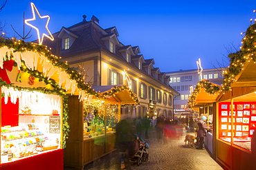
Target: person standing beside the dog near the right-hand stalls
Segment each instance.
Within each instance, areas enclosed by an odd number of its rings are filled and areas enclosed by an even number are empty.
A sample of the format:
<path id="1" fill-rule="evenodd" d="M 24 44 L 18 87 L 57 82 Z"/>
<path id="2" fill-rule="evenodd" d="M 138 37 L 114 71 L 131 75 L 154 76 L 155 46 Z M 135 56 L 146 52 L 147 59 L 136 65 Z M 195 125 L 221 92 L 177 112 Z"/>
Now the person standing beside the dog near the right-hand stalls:
<path id="1" fill-rule="evenodd" d="M 205 125 L 205 121 L 206 121 L 206 117 L 202 116 L 201 120 L 199 120 L 199 122 L 197 123 L 199 129 L 197 131 L 197 142 L 199 147 L 196 149 L 203 149 L 203 142 L 204 142 L 204 137 L 206 136 L 206 125 Z"/>

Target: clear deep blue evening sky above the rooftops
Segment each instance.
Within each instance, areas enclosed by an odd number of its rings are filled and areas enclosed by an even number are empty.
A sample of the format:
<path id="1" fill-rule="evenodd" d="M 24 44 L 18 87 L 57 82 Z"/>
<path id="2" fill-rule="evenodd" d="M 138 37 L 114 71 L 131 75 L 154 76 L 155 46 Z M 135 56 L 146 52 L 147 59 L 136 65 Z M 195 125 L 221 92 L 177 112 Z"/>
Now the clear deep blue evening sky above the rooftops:
<path id="1" fill-rule="evenodd" d="M 25 19 L 33 17 L 30 2 L 8 0 L 0 12 L 8 36 L 17 36 L 10 25 L 23 35 L 24 12 Z M 51 17 L 48 24 L 51 33 L 82 21 L 83 14 L 87 21 L 95 15 L 104 29 L 116 26 L 119 41 L 124 45 L 138 45 L 144 58 L 154 59 L 154 67 L 159 67 L 161 72 L 196 69 L 199 58 L 204 69 L 219 67 L 217 63 L 227 66 L 226 56 L 241 46 L 240 33 L 246 31 L 250 19 L 256 18 L 253 12 L 256 1 L 253 0 L 32 2 L 42 16 Z M 26 25 L 25 30 L 26 34 L 30 27 Z M 37 39 L 34 29 L 31 34 L 33 36 L 26 41 Z"/>

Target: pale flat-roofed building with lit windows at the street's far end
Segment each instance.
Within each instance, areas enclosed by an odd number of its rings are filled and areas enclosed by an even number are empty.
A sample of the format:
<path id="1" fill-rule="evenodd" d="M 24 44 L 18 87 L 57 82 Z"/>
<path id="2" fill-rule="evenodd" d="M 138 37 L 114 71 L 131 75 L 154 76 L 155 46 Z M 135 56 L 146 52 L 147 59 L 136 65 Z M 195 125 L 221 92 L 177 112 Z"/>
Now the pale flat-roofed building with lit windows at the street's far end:
<path id="1" fill-rule="evenodd" d="M 198 74 L 198 70 L 179 70 L 175 72 L 166 72 L 170 76 L 170 86 L 179 92 L 179 95 L 174 96 L 174 113 L 175 115 L 188 115 L 190 109 L 187 109 L 188 98 L 196 87 L 197 83 L 202 79 L 217 79 L 223 78 L 223 68 L 205 69 Z"/>

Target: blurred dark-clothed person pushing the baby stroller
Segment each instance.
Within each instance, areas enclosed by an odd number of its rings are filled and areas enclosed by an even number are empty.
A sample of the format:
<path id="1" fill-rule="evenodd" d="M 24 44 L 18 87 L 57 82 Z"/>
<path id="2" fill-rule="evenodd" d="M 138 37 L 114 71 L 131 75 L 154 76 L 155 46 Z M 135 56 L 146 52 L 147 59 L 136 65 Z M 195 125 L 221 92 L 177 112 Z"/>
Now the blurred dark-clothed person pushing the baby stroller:
<path id="1" fill-rule="evenodd" d="M 119 153 L 119 161 L 121 169 L 125 169 L 129 164 L 129 156 L 132 155 L 136 136 L 126 116 L 122 116 L 119 123 L 116 125 L 116 148 Z"/>

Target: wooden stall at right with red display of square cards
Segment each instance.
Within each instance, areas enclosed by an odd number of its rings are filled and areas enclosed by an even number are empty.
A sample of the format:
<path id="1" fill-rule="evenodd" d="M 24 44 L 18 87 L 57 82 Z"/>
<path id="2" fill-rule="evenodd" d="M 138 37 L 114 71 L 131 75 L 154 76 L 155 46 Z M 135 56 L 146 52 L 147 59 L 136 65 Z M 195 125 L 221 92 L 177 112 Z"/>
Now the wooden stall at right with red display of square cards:
<path id="1" fill-rule="evenodd" d="M 213 105 L 213 155 L 224 169 L 255 169 L 251 142 L 256 130 L 255 42 L 253 24 L 246 31 L 241 50 L 229 55 L 230 65 L 223 72 L 221 87 L 205 81 L 188 103 L 191 107 Z M 203 97 L 203 92 L 208 96 Z"/>

